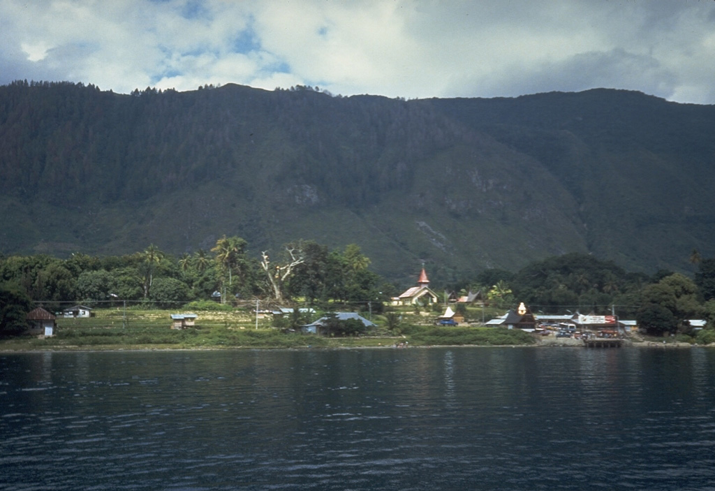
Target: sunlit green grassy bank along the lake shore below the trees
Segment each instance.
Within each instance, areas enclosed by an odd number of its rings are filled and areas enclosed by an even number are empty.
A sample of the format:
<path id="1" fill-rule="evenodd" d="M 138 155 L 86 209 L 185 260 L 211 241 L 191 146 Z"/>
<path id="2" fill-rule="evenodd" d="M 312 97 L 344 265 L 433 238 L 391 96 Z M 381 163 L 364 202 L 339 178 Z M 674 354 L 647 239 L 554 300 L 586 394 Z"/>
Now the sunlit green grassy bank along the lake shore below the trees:
<path id="1" fill-rule="evenodd" d="M 277 349 L 385 347 L 398 342 L 410 346 L 528 345 L 534 340 L 519 330 L 485 327 L 433 327 L 404 322 L 400 332 L 378 327 L 361 337 L 323 337 L 300 332 L 281 332 L 271 319 L 258 319 L 249 312 L 198 312 L 194 327 L 170 329 L 164 310 L 101 309 L 88 319 L 57 319 L 56 335 L 45 339 L 16 337 L 0 339 L 2 351 L 72 349 Z M 416 319 L 415 319 L 416 320 Z"/>

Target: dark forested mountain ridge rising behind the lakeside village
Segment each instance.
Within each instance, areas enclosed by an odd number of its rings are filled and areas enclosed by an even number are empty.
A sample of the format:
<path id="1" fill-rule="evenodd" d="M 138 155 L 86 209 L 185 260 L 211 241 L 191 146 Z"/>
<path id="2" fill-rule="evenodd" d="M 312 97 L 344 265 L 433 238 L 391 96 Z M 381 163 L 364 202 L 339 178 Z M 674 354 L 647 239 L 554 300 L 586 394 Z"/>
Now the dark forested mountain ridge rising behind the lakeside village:
<path id="1" fill-rule="evenodd" d="M 0 87 L 0 252 L 256 254 L 355 243 L 405 283 L 593 252 L 631 270 L 715 254 L 715 108 L 631 91 L 515 99 L 226 85 Z"/>

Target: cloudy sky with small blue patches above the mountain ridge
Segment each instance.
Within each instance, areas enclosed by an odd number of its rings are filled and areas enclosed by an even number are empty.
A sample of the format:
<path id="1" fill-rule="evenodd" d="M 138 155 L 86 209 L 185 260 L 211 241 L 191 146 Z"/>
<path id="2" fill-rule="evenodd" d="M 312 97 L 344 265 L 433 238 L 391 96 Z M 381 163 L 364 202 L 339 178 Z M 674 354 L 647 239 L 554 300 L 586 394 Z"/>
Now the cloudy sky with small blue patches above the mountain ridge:
<path id="1" fill-rule="evenodd" d="M 715 104 L 713 0 L 0 0 L 0 84 Z"/>

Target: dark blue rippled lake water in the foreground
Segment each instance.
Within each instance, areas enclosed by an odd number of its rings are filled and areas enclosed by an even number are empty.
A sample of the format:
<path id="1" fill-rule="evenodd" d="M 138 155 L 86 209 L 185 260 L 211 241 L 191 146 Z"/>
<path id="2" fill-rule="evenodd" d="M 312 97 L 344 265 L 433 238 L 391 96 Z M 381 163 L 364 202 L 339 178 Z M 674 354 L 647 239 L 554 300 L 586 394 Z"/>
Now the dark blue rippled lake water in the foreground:
<path id="1" fill-rule="evenodd" d="M 0 490 L 715 490 L 715 350 L 0 354 Z"/>

